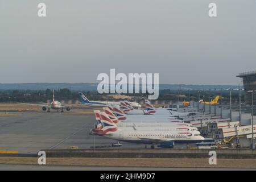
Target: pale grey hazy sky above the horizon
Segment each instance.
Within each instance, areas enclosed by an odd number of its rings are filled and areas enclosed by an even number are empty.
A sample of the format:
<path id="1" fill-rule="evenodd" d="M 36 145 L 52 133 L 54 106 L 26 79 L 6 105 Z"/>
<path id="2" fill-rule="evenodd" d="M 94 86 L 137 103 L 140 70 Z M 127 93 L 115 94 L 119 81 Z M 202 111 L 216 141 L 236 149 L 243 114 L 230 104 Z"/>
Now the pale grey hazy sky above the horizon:
<path id="1" fill-rule="evenodd" d="M 115 68 L 238 85 L 256 69 L 256 0 L 0 0 L 0 23 L 2 83 L 96 82 Z"/>

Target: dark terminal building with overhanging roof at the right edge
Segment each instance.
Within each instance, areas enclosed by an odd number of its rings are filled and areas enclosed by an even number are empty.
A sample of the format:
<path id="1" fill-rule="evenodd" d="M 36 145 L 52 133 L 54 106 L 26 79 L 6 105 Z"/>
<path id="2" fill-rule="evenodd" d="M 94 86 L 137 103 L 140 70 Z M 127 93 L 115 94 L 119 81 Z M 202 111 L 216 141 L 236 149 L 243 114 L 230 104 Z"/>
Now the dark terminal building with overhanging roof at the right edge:
<path id="1" fill-rule="evenodd" d="M 237 77 L 243 80 L 243 89 L 245 89 L 245 103 L 251 105 L 251 90 L 254 90 L 254 105 L 256 104 L 256 71 L 240 73 Z"/>

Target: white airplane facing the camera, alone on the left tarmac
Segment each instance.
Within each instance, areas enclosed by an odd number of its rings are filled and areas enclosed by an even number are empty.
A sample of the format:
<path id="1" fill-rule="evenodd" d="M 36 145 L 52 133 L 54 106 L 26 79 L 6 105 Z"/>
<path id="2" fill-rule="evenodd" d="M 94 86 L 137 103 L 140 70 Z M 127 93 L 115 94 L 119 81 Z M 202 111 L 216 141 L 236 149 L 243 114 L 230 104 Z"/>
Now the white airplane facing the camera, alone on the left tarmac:
<path id="1" fill-rule="evenodd" d="M 63 106 L 61 104 L 61 102 L 59 101 L 55 101 L 55 98 L 54 98 L 54 90 L 52 90 L 52 102 L 51 104 L 29 104 L 29 103 L 19 103 L 19 104 L 26 104 L 26 105 L 36 105 L 36 106 L 42 106 L 42 110 L 46 111 L 47 109 L 47 112 L 49 113 L 50 112 L 50 109 L 53 109 L 53 110 L 61 110 L 61 113 L 63 113 L 63 109 L 66 109 L 67 111 L 71 110 L 71 108 L 69 106 Z"/>

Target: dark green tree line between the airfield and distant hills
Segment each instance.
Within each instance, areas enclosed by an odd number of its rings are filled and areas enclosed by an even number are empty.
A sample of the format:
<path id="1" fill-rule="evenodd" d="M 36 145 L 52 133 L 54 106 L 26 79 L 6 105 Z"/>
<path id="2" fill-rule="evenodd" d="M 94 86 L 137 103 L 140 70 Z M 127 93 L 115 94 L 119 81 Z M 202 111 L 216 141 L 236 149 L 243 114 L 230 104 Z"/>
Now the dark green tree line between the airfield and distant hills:
<path id="1" fill-rule="evenodd" d="M 77 91 L 71 91 L 67 88 L 55 90 L 55 100 L 80 100 Z M 113 100 L 112 97 L 106 97 L 105 94 L 98 94 L 97 92 L 83 92 L 89 100 Z M 135 100 L 140 101 L 147 98 L 147 94 L 126 94 L 134 97 Z M 222 101 L 229 101 L 229 91 L 210 92 L 202 90 L 159 90 L 159 101 L 197 101 L 199 98 L 209 101 L 216 95 L 222 96 Z M 199 97 L 200 96 L 200 97 Z M 137 99 L 136 99 L 137 98 Z M 139 98 L 139 99 L 138 99 Z M 0 90 L 0 102 L 46 102 L 52 100 L 52 90 Z M 239 92 L 232 91 L 232 100 L 239 100 Z M 243 101 L 243 92 L 242 92 Z"/>

